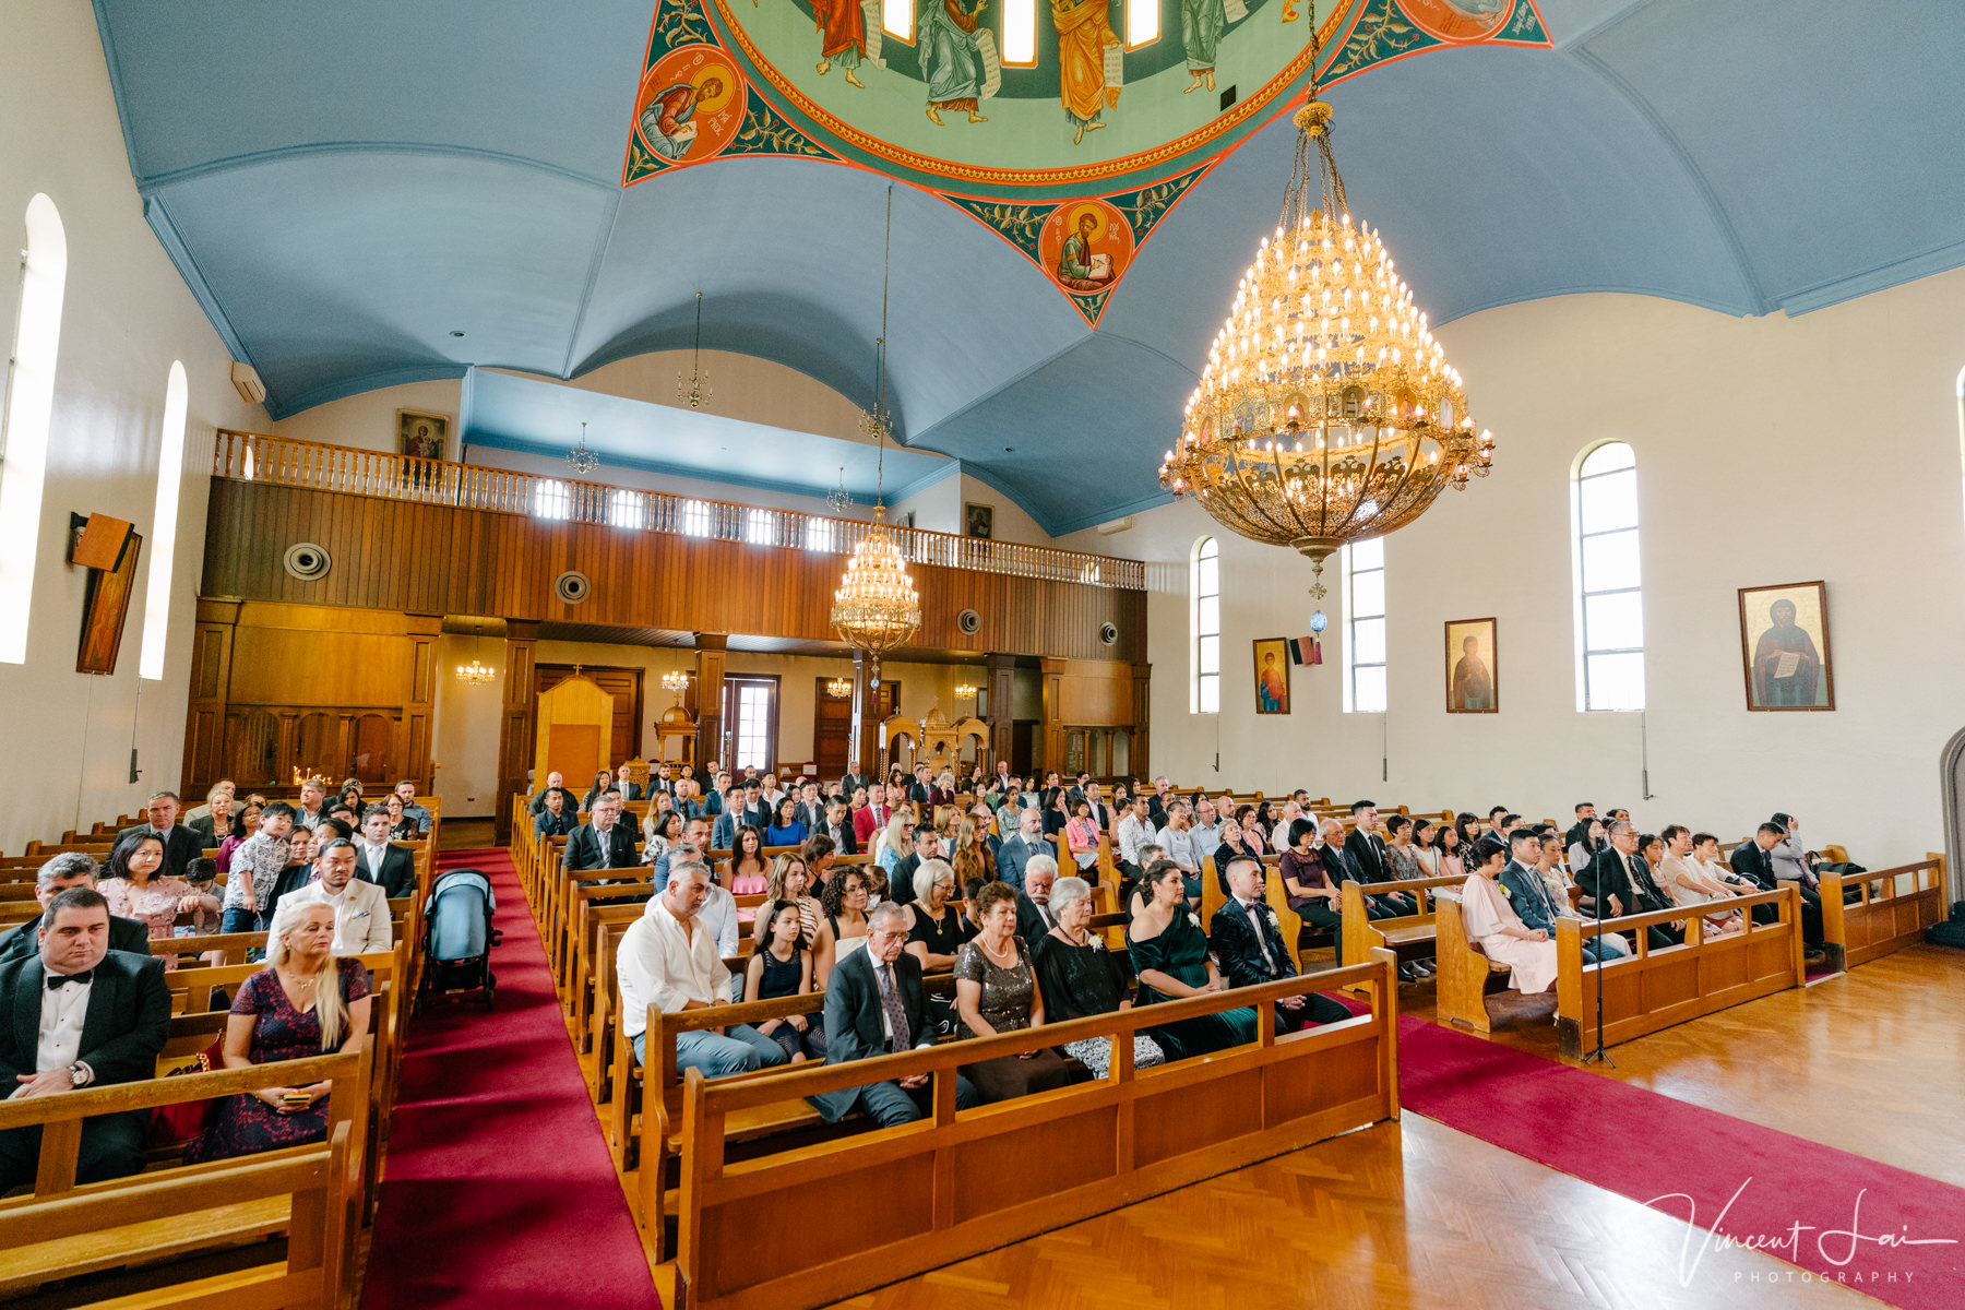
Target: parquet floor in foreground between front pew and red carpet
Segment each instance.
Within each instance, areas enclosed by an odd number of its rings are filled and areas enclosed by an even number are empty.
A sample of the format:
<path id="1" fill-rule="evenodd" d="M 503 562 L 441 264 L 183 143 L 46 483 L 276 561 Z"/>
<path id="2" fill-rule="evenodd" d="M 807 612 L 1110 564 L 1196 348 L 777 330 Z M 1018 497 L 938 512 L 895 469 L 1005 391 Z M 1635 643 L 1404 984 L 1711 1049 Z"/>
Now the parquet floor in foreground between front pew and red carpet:
<path id="1" fill-rule="evenodd" d="M 1861 1306 L 1770 1255 L 1407 1114 L 839 1302 L 855 1310 Z M 1696 1263 L 1694 1263 L 1696 1261 Z M 1790 1277 L 1792 1275 L 1792 1277 Z M 1755 1281 L 1759 1277 L 1759 1283 Z M 1778 1279 L 1778 1283 L 1768 1283 Z M 1875 1304 L 1875 1302 L 1869 1302 Z"/>

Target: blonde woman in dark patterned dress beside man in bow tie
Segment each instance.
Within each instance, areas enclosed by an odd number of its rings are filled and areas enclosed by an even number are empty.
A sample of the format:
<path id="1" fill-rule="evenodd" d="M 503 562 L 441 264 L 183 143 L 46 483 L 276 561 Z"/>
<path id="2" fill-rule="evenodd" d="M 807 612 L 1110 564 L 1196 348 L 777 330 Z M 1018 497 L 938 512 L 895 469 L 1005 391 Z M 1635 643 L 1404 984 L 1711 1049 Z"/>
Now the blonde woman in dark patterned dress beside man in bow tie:
<path id="1" fill-rule="evenodd" d="M 252 1068 L 360 1051 L 369 1031 L 362 960 L 336 958 L 334 907 L 285 901 L 267 935 L 267 966 L 240 984 L 226 1021 L 224 1066 Z M 328 1082 L 259 1088 L 226 1100 L 191 1149 L 195 1161 L 277 1151 L 328 1137 Z"/>

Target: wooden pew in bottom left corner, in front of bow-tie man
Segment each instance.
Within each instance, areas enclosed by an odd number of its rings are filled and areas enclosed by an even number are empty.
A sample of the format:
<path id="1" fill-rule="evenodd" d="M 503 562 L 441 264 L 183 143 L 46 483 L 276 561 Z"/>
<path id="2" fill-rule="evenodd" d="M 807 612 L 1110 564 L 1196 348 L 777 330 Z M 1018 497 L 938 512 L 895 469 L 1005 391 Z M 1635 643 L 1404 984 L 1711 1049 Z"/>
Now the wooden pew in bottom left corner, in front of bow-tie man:
<path id="1" fill-rule="evenodd" d="M 43 1129 L 33 1194 L 0 1200 L 0 1292 L 285 1233 L 287 1259 L 281 1263 L 165 1283 L 110 1304 L 338 1308 L 356 1257 L 350 1214 L 360 1194 L 367 1076 L 364 1051 L 0 1102 L 0 1129 Z M 177 1165 L 112 1182 L 75 1182 L 75 1155 L 88 1116 L 320 1080 L 334 1082 L 324 1143 Z M 169 1279 L 169 1271 L 159 1277 Z"/>

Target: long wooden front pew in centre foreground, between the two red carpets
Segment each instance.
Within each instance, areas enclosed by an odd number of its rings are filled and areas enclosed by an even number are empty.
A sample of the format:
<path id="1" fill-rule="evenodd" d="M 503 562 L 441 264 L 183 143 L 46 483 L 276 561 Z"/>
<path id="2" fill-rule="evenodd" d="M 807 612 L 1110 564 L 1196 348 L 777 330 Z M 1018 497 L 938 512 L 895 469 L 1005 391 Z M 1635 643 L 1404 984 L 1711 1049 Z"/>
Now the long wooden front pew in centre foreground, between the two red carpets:
<path id="1" fill-rule="evenodd" d="M 855 1064 L 717 1080 L 690 1070 L 680 1143 L 682 1300 L 692 1310 L 825 1306 L 1395 1118 L 1395 962 L 1381 953 L 1336 980 L 1368 986 L 1372 1013 L 1285 1037 L 1269 1021 L 1275 1002 L 1328 986 L 1328 974 Z M 1140 1029 L 1248 1004 L 1260 1011 L 1256 1043 L 1134 1068 Z M 961 1064 L 1102 1035 L 1114 1039 L 1106 1078 L 955 1110 Z M 731 1163 L 733 1125 L 749 1114 L 916 1074 L 933 1080 L 933 1114 L 924 1121 Z M 979 1182 L 984 1174 L 988 1184 Z M 760 1233 L 796 1231 L 825 1214 L 853 1214 L 859 1237 L 772 1243 L 762 1257 Z"/>

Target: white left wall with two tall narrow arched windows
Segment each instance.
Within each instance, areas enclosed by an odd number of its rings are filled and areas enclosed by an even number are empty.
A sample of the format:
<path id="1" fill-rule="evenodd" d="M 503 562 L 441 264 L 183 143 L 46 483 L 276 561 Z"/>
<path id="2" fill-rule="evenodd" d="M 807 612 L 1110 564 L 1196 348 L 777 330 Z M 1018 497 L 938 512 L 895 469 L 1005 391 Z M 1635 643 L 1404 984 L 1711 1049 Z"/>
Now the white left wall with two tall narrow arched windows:
<path id="1" fill-rule="evenodd" d="M 16 0 L 0 39 L 0 249 L 26 244 L 28 200 L 45 192 L 69 244 L 53 424 L 26 664 L 0 664 L 0 850 L 134 811 L 173 788 L 185 750 L 191 632 L 204 564 L 212 428 L 265 426 L 240 401 L 230 355 L 143 222 L 130 181 L 102 45 L 86 4 Z M 0 277 L 0 334 L 12 334 L 14 259 Z M 189 381 L 185 479 L 165 676 L 141 683 L 138 652 L 155 536 L 157 450 L 171 361 Z M 75 672 L 86 570 L 65 564 L 69 513 L 136 522 L 145 550 L 116 674 Z M 128 782 L 130 746 L 143 778 Z"/>

